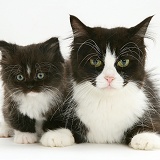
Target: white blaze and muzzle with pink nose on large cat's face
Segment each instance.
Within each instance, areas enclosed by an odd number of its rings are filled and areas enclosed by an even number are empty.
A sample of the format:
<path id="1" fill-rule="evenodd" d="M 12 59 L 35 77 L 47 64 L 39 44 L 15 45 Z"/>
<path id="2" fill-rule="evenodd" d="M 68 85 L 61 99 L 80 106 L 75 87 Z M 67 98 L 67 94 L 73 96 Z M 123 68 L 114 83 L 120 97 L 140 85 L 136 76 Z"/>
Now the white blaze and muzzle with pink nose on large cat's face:
<path id="1" fill-rule="evenodd" d="M 109 47 L 106 49 L 104 59 L 104 68 L 100 75 L 96 78 L 96 86 L 98 88 L 114 88 L 120 89 L 123 87 L 123 78 L 119 75 L 115 68 L 116 56 L 111 53 Z"/>

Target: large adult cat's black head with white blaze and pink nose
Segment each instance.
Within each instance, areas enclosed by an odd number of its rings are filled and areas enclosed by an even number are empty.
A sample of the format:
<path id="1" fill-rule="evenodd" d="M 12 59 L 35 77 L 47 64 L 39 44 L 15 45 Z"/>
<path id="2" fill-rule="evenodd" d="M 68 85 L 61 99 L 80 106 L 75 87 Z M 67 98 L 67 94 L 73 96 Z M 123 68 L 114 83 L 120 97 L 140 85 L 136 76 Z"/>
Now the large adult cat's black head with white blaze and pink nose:
<path id="1" fill-rule="evenodd" d="M 77 83 L 89 81 L 101 89 L 139 87 L 145 77 L 144 37 L 152 17 L 131 28 L 88 27 L 70 16 L 74 33 L 71 64 Z"/>

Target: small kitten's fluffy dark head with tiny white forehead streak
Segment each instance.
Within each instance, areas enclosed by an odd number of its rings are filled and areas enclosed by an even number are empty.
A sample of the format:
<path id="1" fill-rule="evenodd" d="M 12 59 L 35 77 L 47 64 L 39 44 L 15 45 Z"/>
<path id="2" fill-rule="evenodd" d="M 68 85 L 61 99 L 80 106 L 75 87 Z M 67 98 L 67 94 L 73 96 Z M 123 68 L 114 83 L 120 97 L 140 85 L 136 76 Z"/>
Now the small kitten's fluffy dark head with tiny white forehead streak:
<path id="1" fill-rule="evenodd" d="M 63 62 L 58 38 L 18 46 L 0 41 L 2 80 L 14 94 L 50 91 L 62 82 Z"/>

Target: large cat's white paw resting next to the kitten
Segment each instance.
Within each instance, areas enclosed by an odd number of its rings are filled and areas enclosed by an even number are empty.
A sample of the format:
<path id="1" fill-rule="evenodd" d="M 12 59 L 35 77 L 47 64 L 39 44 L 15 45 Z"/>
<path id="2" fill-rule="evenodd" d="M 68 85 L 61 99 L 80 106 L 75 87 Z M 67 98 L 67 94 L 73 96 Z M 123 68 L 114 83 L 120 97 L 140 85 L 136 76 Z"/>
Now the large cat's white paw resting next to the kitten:
<path id="1" fill-rule="evenodd" d="M 40 142 L 47 147 L 65 147 L 74 144 L 74 137 L 68 129 L 57 129 L 44 133 Z"/>

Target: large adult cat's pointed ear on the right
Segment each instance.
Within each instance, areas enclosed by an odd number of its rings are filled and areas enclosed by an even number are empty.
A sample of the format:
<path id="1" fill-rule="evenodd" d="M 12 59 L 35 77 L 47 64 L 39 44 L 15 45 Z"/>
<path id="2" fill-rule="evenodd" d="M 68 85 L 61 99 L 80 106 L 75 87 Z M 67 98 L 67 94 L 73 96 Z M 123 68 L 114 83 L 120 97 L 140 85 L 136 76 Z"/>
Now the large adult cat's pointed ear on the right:
<path id="1" fill-rule="evenodd" d="M 153 16 L 150 16 L 146 19 L 144 19 L 141 23 L 136 25 L 135 27 L 131 27 L 129 29 L 129 33 L 131 36 L 138 36 L 138 37 L 147 37 L 146 36 L 146 31 L 148 29 L 149 23 L 151 21 Z"/>

